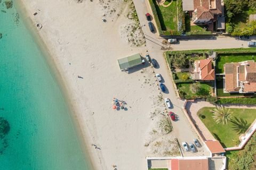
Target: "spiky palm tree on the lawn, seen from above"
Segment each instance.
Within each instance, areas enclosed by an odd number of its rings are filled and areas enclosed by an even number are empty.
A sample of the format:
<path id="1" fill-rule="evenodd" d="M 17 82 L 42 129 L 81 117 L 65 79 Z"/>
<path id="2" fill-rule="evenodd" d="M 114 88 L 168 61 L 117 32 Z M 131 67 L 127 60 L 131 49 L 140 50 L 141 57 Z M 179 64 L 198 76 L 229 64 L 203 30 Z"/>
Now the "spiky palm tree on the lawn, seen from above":
<path id="1" fill-rule="evenodd" d="M 213 113 L 212 117 L 217 124 L 227 124 L 229 121 L 231 121 L 231 111 L 229 108 L 218 106 L 211 110 L 211 112 Z"/>

